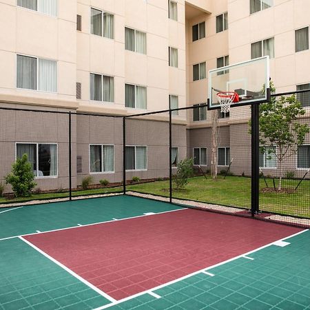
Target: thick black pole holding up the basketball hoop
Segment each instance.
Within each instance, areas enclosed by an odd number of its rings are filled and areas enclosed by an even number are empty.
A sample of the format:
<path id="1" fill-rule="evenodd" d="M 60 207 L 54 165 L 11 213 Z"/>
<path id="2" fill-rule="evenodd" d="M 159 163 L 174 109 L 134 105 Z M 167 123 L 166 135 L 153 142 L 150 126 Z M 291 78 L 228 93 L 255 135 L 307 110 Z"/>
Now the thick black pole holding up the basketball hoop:
<path id="1" fill-rule="evenodd" d="M 255 216 L 259 211 L 259 109 L 258 104 L 251 105 L 251 216 Z"/>

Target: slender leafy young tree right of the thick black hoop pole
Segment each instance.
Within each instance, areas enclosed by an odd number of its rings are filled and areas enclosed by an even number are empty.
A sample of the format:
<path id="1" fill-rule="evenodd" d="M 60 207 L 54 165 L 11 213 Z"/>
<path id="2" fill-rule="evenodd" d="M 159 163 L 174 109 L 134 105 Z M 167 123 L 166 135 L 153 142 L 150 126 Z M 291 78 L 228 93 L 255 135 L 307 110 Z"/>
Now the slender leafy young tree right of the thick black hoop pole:
<path id="1" fill-rule="evenodd" d="M 260 105 L 260 144 L 262 147 L 271 146 L 268 156 L 273 154 L 278 159 L 278 190 L 282 188 L 283 161 L 297 153 L 297 146 L 304 143 L 309 132 L 309 125 L 298 122 L 298 117 L 304 114 L 305 110 L 295 95 L 281 96 L 278 100 L 273 97 L 269 103 Z"/>

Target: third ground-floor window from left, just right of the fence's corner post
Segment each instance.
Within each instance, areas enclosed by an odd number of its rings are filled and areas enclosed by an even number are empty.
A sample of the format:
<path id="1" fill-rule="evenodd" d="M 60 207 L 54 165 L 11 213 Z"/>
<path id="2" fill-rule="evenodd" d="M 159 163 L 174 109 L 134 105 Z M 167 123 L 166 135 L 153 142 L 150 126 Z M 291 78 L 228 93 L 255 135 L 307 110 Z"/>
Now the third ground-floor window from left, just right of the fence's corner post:
<path id="1" fill-rule="evenodd" d="M 147 147 L 146 146 L 126 146 L 125 168 L 126 170 L 146 170 L 147 169 Z"/>

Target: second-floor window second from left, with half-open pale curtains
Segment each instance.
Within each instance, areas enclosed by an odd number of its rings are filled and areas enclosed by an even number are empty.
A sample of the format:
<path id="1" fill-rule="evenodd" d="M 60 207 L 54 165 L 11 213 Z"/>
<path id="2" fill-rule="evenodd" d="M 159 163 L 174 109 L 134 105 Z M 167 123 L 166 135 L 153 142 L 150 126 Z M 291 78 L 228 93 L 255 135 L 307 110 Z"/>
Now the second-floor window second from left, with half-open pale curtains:
<path id="1" fill-rule="evenodd" d="M 91 73 L 90 100 L 114 102 L 114 78 Z"/>

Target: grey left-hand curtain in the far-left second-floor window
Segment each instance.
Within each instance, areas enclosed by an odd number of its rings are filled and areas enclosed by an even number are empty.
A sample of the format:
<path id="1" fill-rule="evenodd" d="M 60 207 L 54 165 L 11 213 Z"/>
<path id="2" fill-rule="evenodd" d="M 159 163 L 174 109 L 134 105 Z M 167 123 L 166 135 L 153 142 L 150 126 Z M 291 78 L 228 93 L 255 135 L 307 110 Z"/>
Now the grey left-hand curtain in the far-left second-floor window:
<path id="1" fill-rule="evenodd" d="M 37 59 L 17 55 L 17 87 L 37 90 Z"/>

